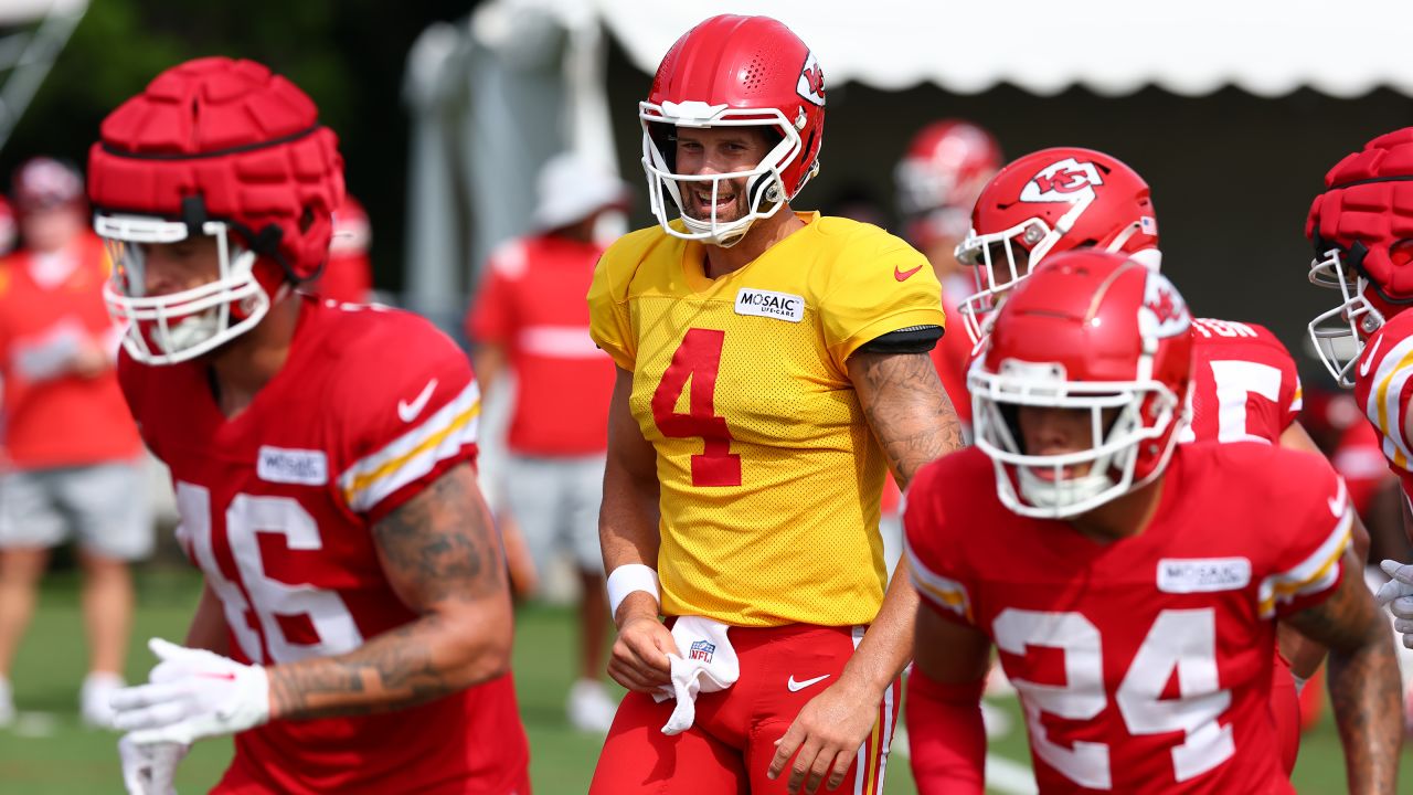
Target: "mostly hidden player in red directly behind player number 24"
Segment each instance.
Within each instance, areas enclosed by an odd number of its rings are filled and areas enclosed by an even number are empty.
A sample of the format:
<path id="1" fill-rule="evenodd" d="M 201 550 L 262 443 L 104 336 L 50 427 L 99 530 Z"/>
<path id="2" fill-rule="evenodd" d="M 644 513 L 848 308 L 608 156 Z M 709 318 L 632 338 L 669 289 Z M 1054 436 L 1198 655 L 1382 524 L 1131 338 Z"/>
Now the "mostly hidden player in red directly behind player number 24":
<path id="1" fill-rule="evenodd" d="M 1058 252 L 1122 252 L 1157 270 L 1157 232 L 1147 182 L 1116 157 L 1054 147 L 1015 160 L 982 188 L 972 231 L 958 246 L 958 256 L 976 266 L 978 291 L 961 307 L 968 332 L 974 338 L 985 334 L 988 317 L 1005 294 L 1029 269 Z M 1193 414 L 1180 443 L 1258 441 L 1318 451 L 1297 422 L 1301 388 L 1296 362 L 1275 334 L 1253 323 L 1195 318 L 1193 351 Z M 1355 515 L 1354 549 L 1361 562 L 1368 547 L 1368 532 Z M 1314 676 L 1324 649 L 1287 628 L 1279 638 L 1282 665 L 1276 673 L 1282 686 L 1272 706 L 1283 727 L 1283 758 L 1293 770 L 1300 743 L 1294 692 Z"/>

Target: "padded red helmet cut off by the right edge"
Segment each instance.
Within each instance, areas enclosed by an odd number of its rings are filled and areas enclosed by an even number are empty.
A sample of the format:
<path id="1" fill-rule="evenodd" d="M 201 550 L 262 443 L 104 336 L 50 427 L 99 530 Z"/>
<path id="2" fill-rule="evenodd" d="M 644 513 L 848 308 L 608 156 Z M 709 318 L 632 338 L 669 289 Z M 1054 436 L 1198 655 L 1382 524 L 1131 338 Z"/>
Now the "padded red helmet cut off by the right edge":
<path id="1" fill-rule="evenodd" d="M 1310 282 L 1340 290 L 1340 303 L 1310 321 L 1330 375 L 1354 386 L 1364 342 L 1413 306 L 1413 127 L 1382 134 L 1325 174 L 1310 205 L 1316 246 Z"/>

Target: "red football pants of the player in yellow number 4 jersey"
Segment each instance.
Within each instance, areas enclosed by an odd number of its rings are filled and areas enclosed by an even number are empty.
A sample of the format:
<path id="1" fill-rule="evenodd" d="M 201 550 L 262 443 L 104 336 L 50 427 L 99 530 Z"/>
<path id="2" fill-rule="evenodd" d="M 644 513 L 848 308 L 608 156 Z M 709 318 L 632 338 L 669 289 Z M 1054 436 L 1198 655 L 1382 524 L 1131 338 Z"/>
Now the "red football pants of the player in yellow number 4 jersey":
<path id="1" fill-rule="evenodd" d="M 589 795 L 786 792 L 788 765 L 780 778 L 766 778 L 776 740 L 784 737 L 810 699 L 838 682 L 862 635 L 862 627 L 732 628 L 740 679 L 719 693 L 697 696 L 697 721 L 673 737 L 661 729 L 675 702 L 656 703 L 651 696 L 629 693 L 603 743 Z M 893 682 L 844 787 L 832 792 L 883 792 L 897 693 L 899 683 Z"/>

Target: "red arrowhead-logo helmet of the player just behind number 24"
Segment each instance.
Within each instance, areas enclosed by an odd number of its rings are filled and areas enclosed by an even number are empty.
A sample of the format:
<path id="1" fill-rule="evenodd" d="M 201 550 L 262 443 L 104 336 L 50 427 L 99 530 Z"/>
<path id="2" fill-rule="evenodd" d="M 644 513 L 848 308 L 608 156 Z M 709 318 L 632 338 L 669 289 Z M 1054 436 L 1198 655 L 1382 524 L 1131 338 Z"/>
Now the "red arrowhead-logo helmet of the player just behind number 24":
<path id="1" fill-rule="evenodd" d="M 1023 262 L 1017 262 L 1017 248 Z M 1075 248 L 1143 252 L 1136 259 L 1157 267 L 1157 221 L 1147 182 L 1121 160 L 1092 149 L 1043 149 L 1002 168 L 982 188 L 972 229 L 957 246 L 957 259 L 976 266 L 976 293 L 961 306 L 972 341 L 981 340 L 986 314 L 1026 277 L 1027 267 Z"/>

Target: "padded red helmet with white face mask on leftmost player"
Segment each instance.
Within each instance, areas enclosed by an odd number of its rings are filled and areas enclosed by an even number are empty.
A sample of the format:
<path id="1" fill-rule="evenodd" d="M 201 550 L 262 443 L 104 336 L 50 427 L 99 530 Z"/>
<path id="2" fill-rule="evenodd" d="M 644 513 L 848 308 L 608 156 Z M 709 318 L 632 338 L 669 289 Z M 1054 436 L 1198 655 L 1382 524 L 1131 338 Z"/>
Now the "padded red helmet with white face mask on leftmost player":
<path id="1" fill-rule="evenodd" d="M 254 327 L 329 255 L 343 158 L 314 102 L 252 61 L 199 58 L 103 120 L 89 150 L 93 228 L 109 243 L 109 311 L 147 364 L 195 358 Z M 216 239 L 219 277 L 146 294 L 144 250 Z"/>

